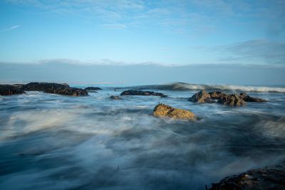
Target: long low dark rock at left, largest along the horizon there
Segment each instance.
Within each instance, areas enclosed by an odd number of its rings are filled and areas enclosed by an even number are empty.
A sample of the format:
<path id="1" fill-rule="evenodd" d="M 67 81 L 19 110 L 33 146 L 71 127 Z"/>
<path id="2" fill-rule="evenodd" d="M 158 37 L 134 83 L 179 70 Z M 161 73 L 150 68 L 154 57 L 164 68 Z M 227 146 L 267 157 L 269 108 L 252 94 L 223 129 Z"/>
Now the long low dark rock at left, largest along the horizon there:
<path id="1" fill-rule="evenodd" d="M 83 90 L 81 88 L 71 88 L 68 84 L 65 83 L 28 83 L 24 85 L 24 90 L 43 91 L 45 93 L 53 93 L 58 95 L 88 95 L 86 90 Z"/>

